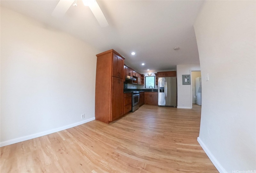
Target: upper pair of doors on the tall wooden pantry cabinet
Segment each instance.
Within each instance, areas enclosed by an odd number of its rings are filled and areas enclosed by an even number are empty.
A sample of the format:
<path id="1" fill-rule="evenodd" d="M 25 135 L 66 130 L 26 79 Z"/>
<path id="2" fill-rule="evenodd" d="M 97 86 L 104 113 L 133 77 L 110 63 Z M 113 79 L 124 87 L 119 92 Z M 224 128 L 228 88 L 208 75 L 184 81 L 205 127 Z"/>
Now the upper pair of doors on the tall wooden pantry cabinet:
<path id="1" fill-rule="evenodd" d="M 124 59 L 113 53 L 112 76 L 124 78 Z"/>

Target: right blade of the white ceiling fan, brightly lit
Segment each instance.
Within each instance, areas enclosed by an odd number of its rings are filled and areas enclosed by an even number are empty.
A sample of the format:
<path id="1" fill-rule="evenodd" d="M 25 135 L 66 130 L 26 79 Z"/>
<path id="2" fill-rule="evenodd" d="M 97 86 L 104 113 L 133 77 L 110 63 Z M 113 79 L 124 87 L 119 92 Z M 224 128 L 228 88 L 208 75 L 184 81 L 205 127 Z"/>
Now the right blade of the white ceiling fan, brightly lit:
<path id="1" fill-rule="evenodd" d="M 91 9 L 93 15 L 95 16 L 101 27 L 106 27 L 109 25 L 107 19 L 101 11 L 100 6 L 96 1 L 92 5 L 90 5 L 89 8 Z"/>

